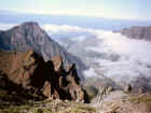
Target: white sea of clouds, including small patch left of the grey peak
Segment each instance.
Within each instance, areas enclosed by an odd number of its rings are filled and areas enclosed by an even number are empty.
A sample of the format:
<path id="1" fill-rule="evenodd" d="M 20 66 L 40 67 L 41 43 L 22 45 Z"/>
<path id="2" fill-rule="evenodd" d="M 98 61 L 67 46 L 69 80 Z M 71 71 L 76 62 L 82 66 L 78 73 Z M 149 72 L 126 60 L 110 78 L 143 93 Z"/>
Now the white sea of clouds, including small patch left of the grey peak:
<path id="1" fill-rule="evenodd" d="M 0 24 L 2 30 L 12 26 L 14 25 Z M 41 27 L 54 40 L 58 41 L 61 39 L 63 45 L 70 42 L 72 42 L 71 47 L 77 45 L 77 47 L 72 47 L 72 51 L 74 51 L 72 54 L 77 56 L 79 55 L 76 50 L 80 50 L 83 53 L 95 52 L 102 55 L 100 57 L 91 57 L 91 60 L 99 63 L 99 70 L 104 75 L 115 82 L 131 82 L 139 76 L 151 77 L 151 42 L 128 39 L 121 36 L 121 33 L 101 29 L 51 24 L 41 25 Z M 69 43 L 64 42 L 67 39 Z M 87 57 L 85 56 L 85 58 Z M 84 71 L 84 74 L 86 77 L 97 76 L 95 69 L 91 66 L 90 70 Z"/>

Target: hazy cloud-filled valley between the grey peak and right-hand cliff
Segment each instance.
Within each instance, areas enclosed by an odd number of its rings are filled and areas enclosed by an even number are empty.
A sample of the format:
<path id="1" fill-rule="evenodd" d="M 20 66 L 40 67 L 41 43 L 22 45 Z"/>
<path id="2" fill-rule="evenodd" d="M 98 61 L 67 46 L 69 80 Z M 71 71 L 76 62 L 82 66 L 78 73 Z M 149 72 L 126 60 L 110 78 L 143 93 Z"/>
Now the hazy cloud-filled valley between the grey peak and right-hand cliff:
<path id="1" fill-rule="evenodd" d="M 63 29 L 64 28 L 64 29 Z M 86 77 L 111 79 L 120 86 L 150 87 L 151 43 L 121 33 L 71 26 L 50 26 L 52 34 L 71 54 L 80 57 L 90 70 Z M 58 38 L 57 33 L 63 36 Z M 67 37 L 68 36 L 68 37 Z M 140 84 L 137 83 L 139 81 Z M 141 81 L 141 82 L 140 82 Z"/>

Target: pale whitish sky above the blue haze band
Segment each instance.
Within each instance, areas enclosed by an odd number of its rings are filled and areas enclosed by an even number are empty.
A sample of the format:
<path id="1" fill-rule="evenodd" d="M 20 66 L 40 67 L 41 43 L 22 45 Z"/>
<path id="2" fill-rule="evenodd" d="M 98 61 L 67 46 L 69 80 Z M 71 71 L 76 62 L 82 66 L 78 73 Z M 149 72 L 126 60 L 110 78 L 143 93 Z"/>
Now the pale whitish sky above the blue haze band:
<path id="1" fill-rule="evenodd" d="M 151 20 L 151 0 L 1 0 L 0 10 Z"/>

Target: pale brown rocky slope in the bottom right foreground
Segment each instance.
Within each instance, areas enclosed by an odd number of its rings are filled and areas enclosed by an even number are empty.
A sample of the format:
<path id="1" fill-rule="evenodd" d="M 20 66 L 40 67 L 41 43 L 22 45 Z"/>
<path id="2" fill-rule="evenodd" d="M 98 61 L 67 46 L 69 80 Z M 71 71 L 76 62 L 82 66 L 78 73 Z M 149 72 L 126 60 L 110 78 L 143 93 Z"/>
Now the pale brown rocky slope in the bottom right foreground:
<path id="1" fill-rule="evenodd" d="M 95 102 L 99 113 L 150 113 L 150 95 L 125 94 L 122 90 L 111 91 Z"/>

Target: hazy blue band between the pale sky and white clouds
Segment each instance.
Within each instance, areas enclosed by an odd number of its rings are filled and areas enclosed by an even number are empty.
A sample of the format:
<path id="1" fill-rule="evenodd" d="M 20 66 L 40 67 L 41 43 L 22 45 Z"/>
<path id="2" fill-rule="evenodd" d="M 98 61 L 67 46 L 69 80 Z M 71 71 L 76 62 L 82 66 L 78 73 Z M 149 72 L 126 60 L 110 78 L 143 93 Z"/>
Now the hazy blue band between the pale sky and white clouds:
<path id="1" fill-rule="evenodd" d="M 151 20 L 112 19 L 82 15 L 32 14 L 0 10 L 0 25 L 3 27 L 19 25 L 25 22 L 37 22 L 40 25 L 67 25 L 104 30 L 121 30 L 131 26 L 151 26 Z M 2 30 L 2 28 L 0 29 Z"/>

